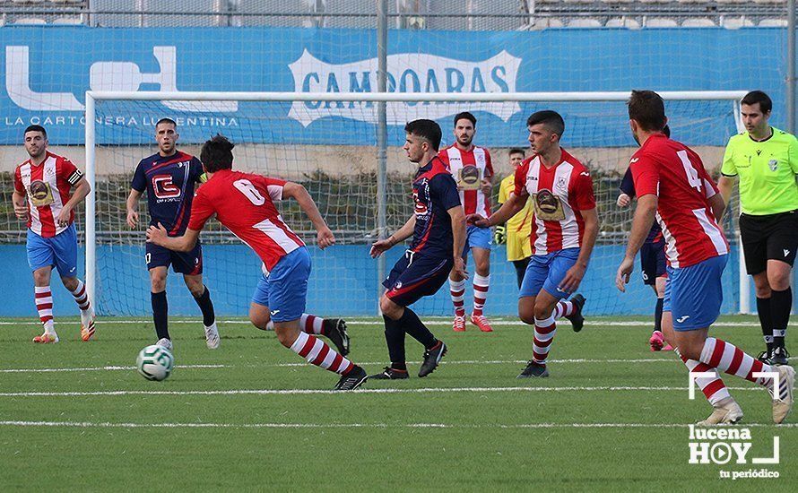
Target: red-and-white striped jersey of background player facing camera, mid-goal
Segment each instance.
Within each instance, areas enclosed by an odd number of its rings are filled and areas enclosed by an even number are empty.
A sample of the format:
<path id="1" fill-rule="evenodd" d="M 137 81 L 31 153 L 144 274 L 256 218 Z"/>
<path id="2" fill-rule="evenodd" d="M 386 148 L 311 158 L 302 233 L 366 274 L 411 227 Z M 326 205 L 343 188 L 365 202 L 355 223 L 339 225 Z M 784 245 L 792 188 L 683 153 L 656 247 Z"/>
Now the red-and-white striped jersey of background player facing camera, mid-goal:
<path id="1" fill-rule="evenodd" d="M 460 203 L 463 204 L 466 214 L 481 214 L 482 217 L 490 216 L 490 195 L 485 195 L 479 188 L 464 190 L 464 180 L 476 179 L 479 185 L 483 178 L 493 176 L 493 163 L 490 161 L 490 152 L 484 147 L 472 146 L 471 151 L 461 151 L 456 145 L 447 147 L 438 152 L 438 157 L 447 165 L 447 169 L 455 177 L 460 188 Z M 474 170 L 479 172 L 479 176 Z"/>

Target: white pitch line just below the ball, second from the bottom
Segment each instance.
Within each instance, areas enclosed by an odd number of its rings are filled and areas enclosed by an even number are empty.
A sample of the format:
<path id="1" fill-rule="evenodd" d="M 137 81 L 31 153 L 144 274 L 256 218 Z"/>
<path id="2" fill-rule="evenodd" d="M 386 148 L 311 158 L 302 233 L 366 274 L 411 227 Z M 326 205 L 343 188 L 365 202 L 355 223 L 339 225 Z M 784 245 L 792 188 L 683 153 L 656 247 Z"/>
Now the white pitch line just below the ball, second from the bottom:
<path id="1" fill-rule="evenodd" d="M 728 387 L 733 391 L 758 391 L 759 387 Z M 358 389 L 348 393 L 321 389 L 237 390 L 108 390 L 94 392 L 3 392 L 0 397 L 99 397 L 126 395 L 342 395 L 342 394 L 453 394 L 499 392 L 685 392 L 686 387 L 594 386 L 594 387 L 428 387 L 417 389 Z"/>

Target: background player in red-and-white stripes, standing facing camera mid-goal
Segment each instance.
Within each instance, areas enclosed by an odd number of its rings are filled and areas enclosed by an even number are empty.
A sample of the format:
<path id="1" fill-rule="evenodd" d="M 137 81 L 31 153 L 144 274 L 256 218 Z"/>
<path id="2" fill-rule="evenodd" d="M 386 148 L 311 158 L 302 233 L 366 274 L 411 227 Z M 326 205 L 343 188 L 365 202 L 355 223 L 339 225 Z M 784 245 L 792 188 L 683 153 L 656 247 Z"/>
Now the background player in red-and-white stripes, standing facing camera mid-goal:
<path id="1" fill-rule="evenodd" d="M 490 152 L 473 144 L 477 119 L 464 111 L 455 115 L 455 144 L 438 153 L 440 160 L 447 165 L 455 177 L 460 191 L 460 203 L 466 215 L 480 214 L 490 217 L 490 191 L 493 180 L 493 164 Z M 476 273 L 473 276 L 473 312 L 471 323 L 482 332 L 493 332 L 488 319 L 482 315 L 490 288 L 490 243 L 492 235 L 489 228 L 469 224 L 465 231 L 467 238 L 463 258 L 468 263 L 468 250 L 471 250 Z M 455 332 L 465 331 L 465 279 L 454 270 L 449 275 L 449 292 L 455 305 Z"/>

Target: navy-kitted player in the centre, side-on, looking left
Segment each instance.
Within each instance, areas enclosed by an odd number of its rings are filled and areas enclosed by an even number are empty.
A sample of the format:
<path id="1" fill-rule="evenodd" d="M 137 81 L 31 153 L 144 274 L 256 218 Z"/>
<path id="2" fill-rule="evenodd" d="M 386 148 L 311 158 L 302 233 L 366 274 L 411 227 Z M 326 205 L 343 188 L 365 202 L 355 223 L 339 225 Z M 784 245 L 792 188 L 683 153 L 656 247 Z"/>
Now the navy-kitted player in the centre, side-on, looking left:
<path id="1" fill-rule="evenodd" d="M 414 212 L 402 228 L 371 246 L 371 256 L 382 255 L 397 243 L 412 237 L 410 248 L 391 270 L 379 299 L 386 324 L 386 342 L 391 366 L 375 376 L 379 380 L 408 377 L 404 356 L 404 334 L 424 345 L 419 376 L 438 368 L 447 345 L 438 341 L 408 306 L 433 295 L 454 272 L 468 279 L 462 257 L 465 245 L 465 214 L 455 178 L 438 158 L 440 126 L 432 120 L 415 120 L 404 126 L 407 157 L 419 166 L 412 182 Z"/>

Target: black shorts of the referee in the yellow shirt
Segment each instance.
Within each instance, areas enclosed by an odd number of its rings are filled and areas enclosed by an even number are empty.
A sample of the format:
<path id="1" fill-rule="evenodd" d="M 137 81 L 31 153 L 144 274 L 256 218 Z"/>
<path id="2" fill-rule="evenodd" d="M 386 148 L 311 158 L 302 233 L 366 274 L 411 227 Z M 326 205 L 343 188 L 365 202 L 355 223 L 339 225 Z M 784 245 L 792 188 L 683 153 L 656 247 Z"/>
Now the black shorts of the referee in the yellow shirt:
<path id="1" fill-rule="evenodd" d="M 765 272 L 768 260 L 792 266 L 798 249 L 798 211 L 765 216 L 741 214 L 740 236 L 745 270 L 750 275 Z"/>

